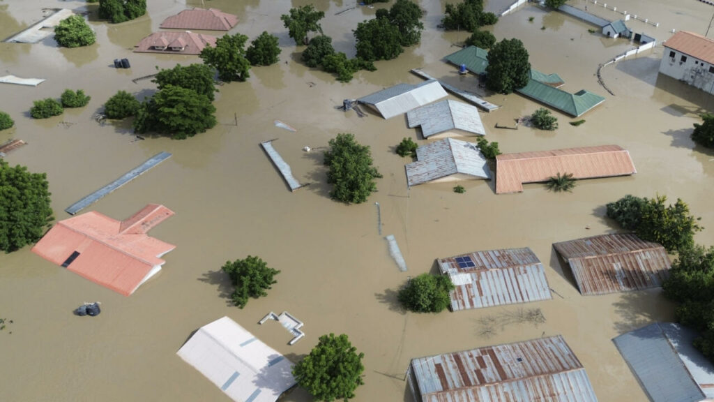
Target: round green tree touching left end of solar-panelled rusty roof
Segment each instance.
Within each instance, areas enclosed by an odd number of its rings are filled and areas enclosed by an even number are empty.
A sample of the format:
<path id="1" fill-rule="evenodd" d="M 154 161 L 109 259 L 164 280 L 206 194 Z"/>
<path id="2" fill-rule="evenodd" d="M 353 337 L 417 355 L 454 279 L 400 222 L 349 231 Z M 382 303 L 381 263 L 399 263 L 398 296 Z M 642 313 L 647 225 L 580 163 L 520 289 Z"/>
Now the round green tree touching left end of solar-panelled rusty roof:
<path id="1" fill-rule="evenodd" d="M 449 292 L 454 289 L 447 275 L 423 273 L 411 278 L 397 294 L 404 308 L 417 313 L 438 313 L 451 304 Z"/>

